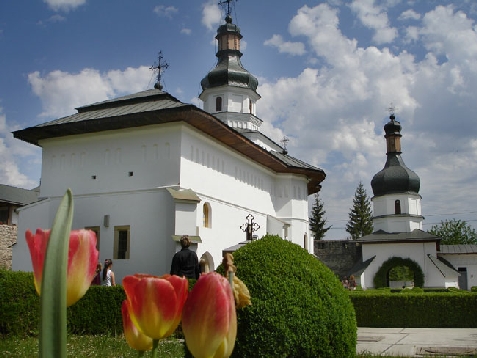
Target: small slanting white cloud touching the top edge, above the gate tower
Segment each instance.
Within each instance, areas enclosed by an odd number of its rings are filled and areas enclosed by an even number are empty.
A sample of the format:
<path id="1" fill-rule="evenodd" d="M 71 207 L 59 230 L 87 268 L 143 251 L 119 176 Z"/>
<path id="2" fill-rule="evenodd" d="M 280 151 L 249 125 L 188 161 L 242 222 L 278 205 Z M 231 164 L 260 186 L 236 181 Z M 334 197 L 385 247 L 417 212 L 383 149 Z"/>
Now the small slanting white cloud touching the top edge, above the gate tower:
<path id="1" fill-rule="evenodd" d="M 375 6 L 374 0 L 354 0 L 350 7 L 364 26 L 375 30 L 373 35 L 375 43 L 378 45 L 389 43 L 396 38 L 397 30 L 389 27 L 385 9 Z"/>

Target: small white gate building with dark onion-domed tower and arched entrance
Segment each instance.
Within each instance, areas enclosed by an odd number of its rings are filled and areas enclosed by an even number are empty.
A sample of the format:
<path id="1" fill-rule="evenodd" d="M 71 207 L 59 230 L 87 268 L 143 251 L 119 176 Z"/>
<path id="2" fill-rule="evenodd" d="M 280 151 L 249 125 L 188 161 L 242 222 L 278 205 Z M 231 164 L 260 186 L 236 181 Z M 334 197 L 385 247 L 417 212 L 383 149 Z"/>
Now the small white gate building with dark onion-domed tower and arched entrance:
<path id="1" fill-rule="evenodd" d="M 356 240 L 362 258 L 349 275 L 363 289 L 372 288 L 378 272 L 388 275 L 387 264 L 394 260 L 415 268 L 415 277 L 421 270 L 423 287 L 477 286 L 477 245 L 441 245 L 439 237 L 422 230 L 420 179 L 401 158 L 401 125 L 394 114 L 384 131 L 386 164 L 371 181 L 374 232 Z M 389 276 L 384 286 L 392 286 Z"/>

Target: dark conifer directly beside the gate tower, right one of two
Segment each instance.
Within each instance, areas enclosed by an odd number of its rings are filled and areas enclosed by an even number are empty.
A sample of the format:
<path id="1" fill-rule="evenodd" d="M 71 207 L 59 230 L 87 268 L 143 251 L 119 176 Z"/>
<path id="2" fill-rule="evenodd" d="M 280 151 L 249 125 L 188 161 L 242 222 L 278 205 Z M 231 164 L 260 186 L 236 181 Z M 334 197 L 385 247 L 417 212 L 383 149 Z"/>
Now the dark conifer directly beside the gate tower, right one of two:
<path id="1" fill-rule="evenodd" d="M 373 233 L 371 202 L 361 182 L 354 193 L 353 207 L 349 213 L 346 231 L 351 234 L 353 240 Z"/>

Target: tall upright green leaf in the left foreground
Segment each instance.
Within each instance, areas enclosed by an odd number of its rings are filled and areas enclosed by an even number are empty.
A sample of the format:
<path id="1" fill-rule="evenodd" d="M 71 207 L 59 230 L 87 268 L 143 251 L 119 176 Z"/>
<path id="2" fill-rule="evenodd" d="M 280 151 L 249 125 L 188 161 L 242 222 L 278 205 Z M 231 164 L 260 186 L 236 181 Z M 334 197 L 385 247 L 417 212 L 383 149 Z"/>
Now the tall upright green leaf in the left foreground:
<path id="1" fill-rule="evenodd" d="M 46 249 L 41 283 L 40 357 L 66 357 L 66 276 L 73 221 L 73 194 L 68 189 L 56 213 Z"/>

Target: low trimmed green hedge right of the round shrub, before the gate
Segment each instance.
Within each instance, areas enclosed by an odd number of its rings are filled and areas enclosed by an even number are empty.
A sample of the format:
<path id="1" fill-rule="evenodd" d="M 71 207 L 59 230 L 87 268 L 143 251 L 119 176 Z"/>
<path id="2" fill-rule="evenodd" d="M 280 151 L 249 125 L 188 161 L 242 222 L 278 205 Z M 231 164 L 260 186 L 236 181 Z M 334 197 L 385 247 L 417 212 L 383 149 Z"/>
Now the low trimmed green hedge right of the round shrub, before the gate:
<path id="1" fill-rule="evenodd" d="M 477 328 L 477 294 L 419 291 L 350 293 L 358 327 Z"/>

